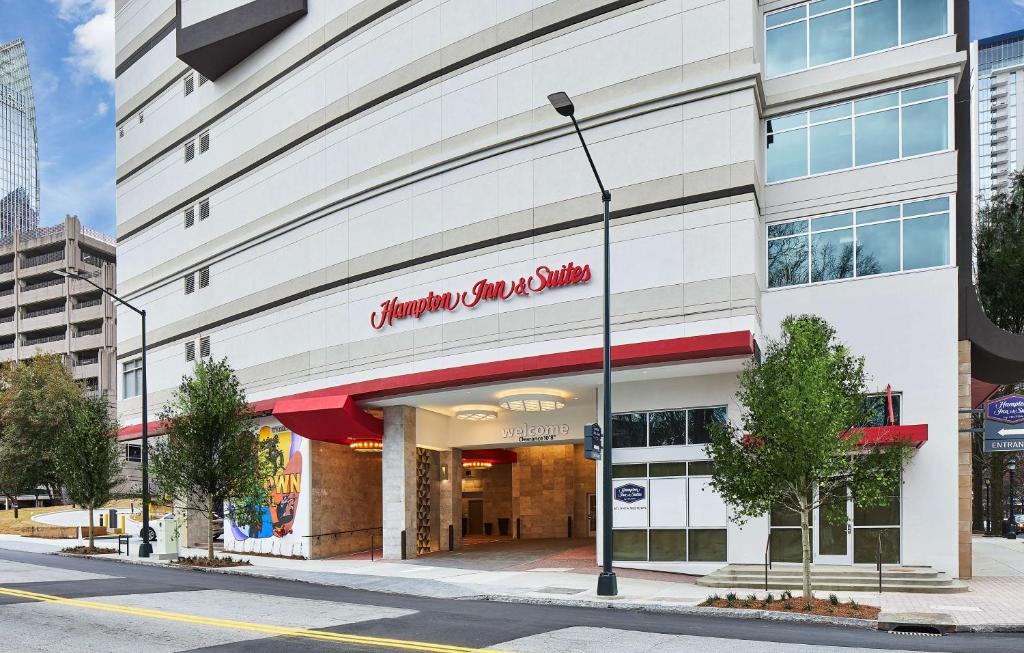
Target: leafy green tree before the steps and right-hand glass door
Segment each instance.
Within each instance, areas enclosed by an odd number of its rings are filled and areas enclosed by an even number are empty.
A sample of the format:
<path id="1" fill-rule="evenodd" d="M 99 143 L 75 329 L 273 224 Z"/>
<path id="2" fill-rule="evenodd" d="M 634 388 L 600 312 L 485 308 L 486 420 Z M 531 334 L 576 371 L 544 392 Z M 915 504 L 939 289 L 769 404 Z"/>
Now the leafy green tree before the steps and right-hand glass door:
<path id="1" fill-rule="evenodd" d="M 712 487 L 740 523 L 773 508 L 800 516 L 804 599 L 811 589 L 811 515 L 822 507 L 846 520 L 848 493 L 862 507 L 897 494 L 910 447 L 870 445 L 858 427 L 868 409 L 864 360 L 813 315 L 790 316 L 782 337 L 767 343 L 760 364 L 739 375 L 741 429 L 713 425 L 708 452 Z M 842 510 L 840 510 L 842 508 Z"/>

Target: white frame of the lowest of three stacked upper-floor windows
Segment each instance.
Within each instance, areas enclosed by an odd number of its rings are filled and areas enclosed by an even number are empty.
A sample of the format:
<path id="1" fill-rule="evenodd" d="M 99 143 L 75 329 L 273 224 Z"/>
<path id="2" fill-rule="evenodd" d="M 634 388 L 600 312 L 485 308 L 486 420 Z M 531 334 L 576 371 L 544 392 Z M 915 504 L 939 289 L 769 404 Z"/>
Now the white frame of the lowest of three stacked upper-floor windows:
<path id="1" fill-rule="evenodd" d="M 903 206 L 904 205 L 914 204 L 916 202 L 927 202 L 927 201 L 930 201 L 930 200 L 941 200 L 943 198 L 945 198 L 945 199 L 947 199 L 949 201 L 949 209 L 948 209 L 948 211 L 935 211 L 935 212 L 931 212 L 931 213 L 922 213 L 922 214 L 912 215 L 912 216 L 909 216 L 909 217 L 903 215 Z M 897 217 L 895 217 L 895 218 L 887 218 L 885 220 L 879 220 L 877 222 L 868 222 L 868 223 L 865 223 L 865 224 L 860 224 L 860 223 L 857 222 L 857 217 L 856 216 L 857 216 L 857 213 L 859 213 L 859 212 L 871 211 L 871 210 L 874 210 L 874 209 L 886 209 L 886 208 L 889 208 L 889 207 L 899 207 L 899 215 Z M 811 227 L 811 222 L 813 220 L 817 220 L 819 218 L 828 218 L 828 217 L 833 217 L 833 216 L 841 216 L 841 215 L 846 215 L 846 214 L 850 214 L 853 217 L 853 221 L 850 224 L 850 226 L 827 227 L 827 228 L 818 229 L 818 230 L 813 230 L 812 227 Z M 914 267 L 914 268 L 910 268 L 910 269 L 905 269 L 904 268 L 904 256 L 903 256 L 903 250 L 904 250 L 904 247 L 905 247 L 905 241 L 904 241 L 904 236 L 903 236 L 903 232 L 904 232 L 903 225 L 904 225 L 904 222 L 906 220 L 915 220 L 915 219 L 919 219 L 919 218 L 926 218 L 926 217 L 931 217 L 931 216 L 936 216 L 936 215 L 942 215 L 942 214 L 946 214 L 948 216 L 948 218 L 949 218 L 948 223 L 946 224 L 946 228 L 948 229 L 948 243 L 949 243 L 949 250 L 946 253 L 947 254 L 946 262 L 944 264 L 942 264 L 942 265 L 932 265 L 930 267 Z M 791 223 L 794 223 L 794 222 L 807 222 L 807 230 L 804 231 L 804 232 L 802 232 L 802 233 L 794 233 L 794 234 L 790 234 L 790 235 L 777 235 L 777 236 L 769 236 L 768 235 L 768 229 L 769 229 L 769 227 L 780 225 L 780 224 L 791 224 Z M 879 224 L 889 224 L 889 223 L 893 223 L 893 222 L 899 224 L 899 245 L 898 245 L 898 249 L 899 249 L 899 269 L 898 270 L 894 270 L 892 272 L 879 272 L 878 274 L 858 275 L 857 274 L 857 228 L 858 227 L 870 227 L 870 226 L 874 226 L 874 225 L 879 225 Z M 852 276 L 842 277 L 842 278 L 824 279 L 824 280 L 820 280 L 820 281 L 814 280 L 812 278 L 812 275 L 813 275 L 813 261 L 814 261 L 814 251 L 813 251 L 814 247 L 813 247 L 813 242 L 812 242 L 812 235 L 815 234 L 815 233 L 827 233 L 827 232 L 831 232 L 831 231 L 842 231 L 844 229 L 851 229 L 853 231 L 853 253 L 854 253 L 854 256 L 853 256 L 853 275 Z M 938 194 L 938 195 L 928 195 L 928 197 L 924 197 L 924 198 L 912 198 L 912 199 L 909 199 L 909 200 L 904 200 L 902 202 L 895 202 L 895 203 L 888 203 L 888 204 L 879 204 L 879 205 L 870 205 L 870 206 L 866 206 L 866 207 L 860 207 L 860 208 L 857 208 L 857 209 L 849 209 L 847 211 L 838 211 L 836 213 L 825 213 L 825 214 L 822 214 L 822 215 L 809 216 L 809 217 L 805 217 L 805 218 L 793 218 L 793 219 L 790 219 L 790 220 L 779 220 L 777 222 L 769 222 L 769 223 L 765 224 L 765 230 L 764 230 L 764 234 L 765 234 L 765 243 L 764 243 L 764 247 L 765 247 L 765 249 L 764 249 L 764 253 L 765 253 L 765 266 L 764 266 L 764 270 L 763 270 L 764 274 L 765 274 L 765 277 L 764 277 L 765 278 L 765 289 L 764 289 L 764 292 L 771 293 L 771 292 L 775 292 L 775 291 L 792 290 L 792 289 L 795 289 L 795 288 L 804 288 L 804 287 L 807 287 L 807 286 L 818 286 L 818 285 L 821 285 L 821 284 L 840 284 L 840 282 L 844 282 L 844 281 L 855 281 L 855 280 L 858 280 L 858 279 L 881 278 L 881 277 L 886 277 L 886 276 L 892 276 L 894 274 L 910 274 L 910 273 L 913 273 L 913 272 L 924 272 L 924 271 L 928 271 L 928 270 L 938 270 L 938 269 L 950 267 L 950 266 L 953 266 L 953 265 L 956 264 L 956 262 L 955 262 L 956 261 L 956 241 L 955 241 L 956 233 L 955 233 L 955 231 L 956 231 L 956 198 L 953 194 Z M 770 278 L 771 259 L 768 256 L 769 245 L 772 242 L 774 242 L 774 241 L 782 241 L 782 240 L 785 240 L 785 238 L 799 237 L 799 236 L 803 236 L 803 237 L 807 238 L 807 281 L 802 282 L 802 284 L 791 284 L 788 286 L 771 286 L 771 278 Z"/>

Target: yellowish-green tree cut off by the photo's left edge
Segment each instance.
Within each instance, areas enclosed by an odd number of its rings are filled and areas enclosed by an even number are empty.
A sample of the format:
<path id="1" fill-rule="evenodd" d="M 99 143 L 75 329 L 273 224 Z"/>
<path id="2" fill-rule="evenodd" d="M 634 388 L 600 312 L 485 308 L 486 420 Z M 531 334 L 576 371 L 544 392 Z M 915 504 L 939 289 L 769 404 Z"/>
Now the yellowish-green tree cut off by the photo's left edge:
<path id="1" fill-rule="evenodd" d="M 40 485 L 57 486 L 56 436 L 81 397 L 58 354 L 37 354 L 0 373 L 0 492 L 14 502 Z"/>

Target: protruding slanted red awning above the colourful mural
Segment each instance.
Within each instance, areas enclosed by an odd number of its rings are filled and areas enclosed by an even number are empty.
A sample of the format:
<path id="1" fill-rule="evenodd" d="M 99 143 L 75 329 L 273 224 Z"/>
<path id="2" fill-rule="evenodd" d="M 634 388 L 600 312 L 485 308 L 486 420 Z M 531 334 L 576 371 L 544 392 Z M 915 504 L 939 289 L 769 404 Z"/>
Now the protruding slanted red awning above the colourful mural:
<path id="1" fill-rule="evenodd" d="M 379 440 L 383 434 L 383 423 L 347 394 L 280 399 L 273 417 L 293 433 L 322 442 Z"/>

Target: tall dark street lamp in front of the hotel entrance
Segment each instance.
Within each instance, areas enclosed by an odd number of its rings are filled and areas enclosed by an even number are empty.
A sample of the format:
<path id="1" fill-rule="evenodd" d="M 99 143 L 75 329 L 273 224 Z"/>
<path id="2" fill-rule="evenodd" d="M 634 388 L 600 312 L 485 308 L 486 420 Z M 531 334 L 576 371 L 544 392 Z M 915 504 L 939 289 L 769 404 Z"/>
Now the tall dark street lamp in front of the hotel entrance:
<path id="1" fill-rule="evenodd" d="M 618 594 L 618 582 L 615 579 L 615 572 L 611 569 L 611 256 L 608 230 L 611 192 L 601 183 L 601 175 L 597 174 L 594 159 L 590 156 L 587 141 L 584 140 L 580 124 L 577 123 L 575 116 L 573 116 L 575 106 L 572 105 L 572 100 L 565 92 L 558 91 L 548 95 L 548 101 L 559 115 L 572 121 L 572 127 L 575 128 L 577 135 L 580 136 L 580 143 L 587 155 L 587 161 L 590 162 L 590 169 L 594 172 L 594 178 L 597 179 L 597 186 L 601 189 L 601 202 L 604 203 L 604 417 L 601 420 L 604 427 L 601 443 L 601 548 L 604 556 L 601 575 L 597 578 L 597 594 L 602 597 L 613 597 Z"/>

